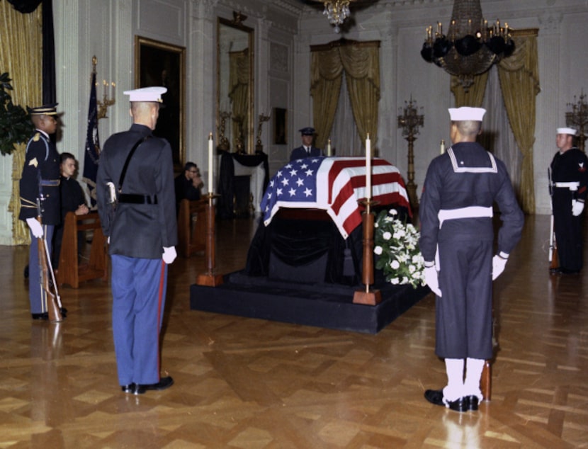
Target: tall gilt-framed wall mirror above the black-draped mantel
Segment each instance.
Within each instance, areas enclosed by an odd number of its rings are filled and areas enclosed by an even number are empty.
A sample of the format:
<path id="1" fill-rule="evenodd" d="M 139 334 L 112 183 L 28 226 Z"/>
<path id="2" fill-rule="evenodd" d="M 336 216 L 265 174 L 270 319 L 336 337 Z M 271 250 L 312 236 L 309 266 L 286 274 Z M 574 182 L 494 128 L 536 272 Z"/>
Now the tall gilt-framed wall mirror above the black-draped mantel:
<path id="1" fill-rule="evenodd" d="M 253 29 L 244 16 L 217 21 L 217 147 L 254 152 Z"/>

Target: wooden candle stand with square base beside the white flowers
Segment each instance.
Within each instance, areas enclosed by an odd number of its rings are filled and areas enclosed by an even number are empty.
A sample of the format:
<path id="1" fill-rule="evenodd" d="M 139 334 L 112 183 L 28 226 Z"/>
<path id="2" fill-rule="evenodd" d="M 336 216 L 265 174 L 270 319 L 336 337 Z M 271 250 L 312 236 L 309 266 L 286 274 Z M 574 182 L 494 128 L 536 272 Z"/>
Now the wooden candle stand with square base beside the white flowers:
<path id="1" fill-rule="evenodd" d="M 361 279 L 366 285 L 366 290 L 354 292 L 354 304 L 377 305 L 382 302 L 380 290 L 371 290 L 373 284 L 373 222 L 374 214 L 371 208 L 379 203 L 371 198 L 360 200 L 358 203 L 365 205 L 366 210 L 362 216 L 363 226 L 363 266 Z"/>

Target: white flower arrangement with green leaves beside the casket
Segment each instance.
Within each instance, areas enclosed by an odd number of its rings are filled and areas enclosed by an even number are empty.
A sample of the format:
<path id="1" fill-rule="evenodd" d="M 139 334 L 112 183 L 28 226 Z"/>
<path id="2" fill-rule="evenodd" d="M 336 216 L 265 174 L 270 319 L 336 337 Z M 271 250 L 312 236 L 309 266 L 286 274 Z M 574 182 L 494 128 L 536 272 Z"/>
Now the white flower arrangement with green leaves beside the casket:
<path id="1" fill-rule="evenodd" d="M 382 270 L 392 284 L 410 284 L 413 288 L 425 285 L 417 228 L 399 220 L 395 209 L 381 211 L 374 225 L 375 268 Z"/>

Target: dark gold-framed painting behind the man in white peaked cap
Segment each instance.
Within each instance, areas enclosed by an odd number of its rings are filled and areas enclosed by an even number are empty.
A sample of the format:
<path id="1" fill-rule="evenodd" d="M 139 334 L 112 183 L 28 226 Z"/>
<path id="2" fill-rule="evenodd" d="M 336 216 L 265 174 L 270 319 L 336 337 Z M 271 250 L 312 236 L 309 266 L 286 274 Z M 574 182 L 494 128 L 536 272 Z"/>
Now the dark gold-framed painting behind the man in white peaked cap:
<path id="1" fill-rule="evenodd" d="M 185 47 L 167 44 L 135 36 L 135 89 L 164 86 L 164 108 L 153 134 L 164 137 L 171 145 L 174 166 L 185 163 L 184 151 L 184 97 L 185 97 Z"/>

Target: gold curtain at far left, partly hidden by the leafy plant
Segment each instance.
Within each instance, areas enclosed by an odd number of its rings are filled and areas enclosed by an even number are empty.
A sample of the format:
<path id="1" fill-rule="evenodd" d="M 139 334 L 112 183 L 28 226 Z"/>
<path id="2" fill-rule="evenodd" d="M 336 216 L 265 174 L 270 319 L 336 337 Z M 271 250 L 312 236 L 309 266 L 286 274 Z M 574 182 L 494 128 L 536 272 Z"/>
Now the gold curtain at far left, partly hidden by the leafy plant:
<path id="1" fill-rule="evenodd" d="M 15 11 L 7 1 L 0 1 L 0 72 L 9 72 L 14 90 L 10 92 L 16 105 L 39 105 L 43 89 L 43 9 L 33 13 Z M 25 160 L 25 144 L 19 144 L 12 153 L 12 195 L 9 212 L 12 212 L 13 244 L 28 244 L 28 227 L 18 220 L 21 211 L 20 189 Z"/>

